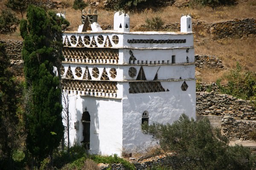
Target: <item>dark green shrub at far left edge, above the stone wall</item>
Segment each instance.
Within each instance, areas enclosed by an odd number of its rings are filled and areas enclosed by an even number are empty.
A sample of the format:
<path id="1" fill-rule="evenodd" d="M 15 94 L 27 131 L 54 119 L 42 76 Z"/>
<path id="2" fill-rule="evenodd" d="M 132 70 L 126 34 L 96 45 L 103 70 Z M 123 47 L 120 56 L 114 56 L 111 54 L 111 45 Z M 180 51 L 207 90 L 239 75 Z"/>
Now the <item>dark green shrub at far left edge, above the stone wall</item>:
<path id="1" fill-rule="evenodd" d="M 0 34 L 15 32 L 19 20 L 10 9 L 2 9 L 0 14 Z"/>

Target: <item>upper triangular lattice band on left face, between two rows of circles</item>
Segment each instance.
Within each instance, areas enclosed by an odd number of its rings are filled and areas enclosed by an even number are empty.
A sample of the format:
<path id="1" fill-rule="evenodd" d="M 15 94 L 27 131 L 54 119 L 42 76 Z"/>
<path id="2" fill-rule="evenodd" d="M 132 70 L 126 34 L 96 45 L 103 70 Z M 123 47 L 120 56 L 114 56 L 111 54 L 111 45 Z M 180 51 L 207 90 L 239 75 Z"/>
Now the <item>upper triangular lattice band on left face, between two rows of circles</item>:
<path id="1" fill-rule="evenodd" d="M 69 48 L 63 47 L 62 54 L 66 61 L 75 62 L 72 59 L 87 59 L 87 60 L 115 60 L 118 63 L 119 50 L 105 48 Z M 85 61 L 84 61 L 85 62 Z M 105 61 L 100 61 L 105 62 Z"/>

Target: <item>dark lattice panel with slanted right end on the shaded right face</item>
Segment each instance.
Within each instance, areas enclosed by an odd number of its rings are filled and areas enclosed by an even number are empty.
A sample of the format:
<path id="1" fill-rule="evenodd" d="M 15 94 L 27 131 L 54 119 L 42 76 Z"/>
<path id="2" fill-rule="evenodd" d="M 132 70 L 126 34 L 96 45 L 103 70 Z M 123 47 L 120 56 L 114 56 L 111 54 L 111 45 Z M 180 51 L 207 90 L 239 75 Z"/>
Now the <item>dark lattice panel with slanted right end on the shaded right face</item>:
<path id="1" fill-rule="evenodd" d="M 129 93 L 165 92 L 160 81 L 129 82 Z"/>

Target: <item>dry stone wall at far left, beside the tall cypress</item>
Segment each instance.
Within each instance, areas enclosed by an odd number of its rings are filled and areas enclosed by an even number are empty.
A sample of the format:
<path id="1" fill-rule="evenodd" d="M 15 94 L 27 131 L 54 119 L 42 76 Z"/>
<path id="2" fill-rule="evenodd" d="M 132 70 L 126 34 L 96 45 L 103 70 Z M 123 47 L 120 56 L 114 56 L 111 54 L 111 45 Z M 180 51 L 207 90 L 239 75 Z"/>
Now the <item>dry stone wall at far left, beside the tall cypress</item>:
<path id="1" fill-rule="evenodd" d="M 16 76 L 23 76 L 24 62 L 21 58 L 21 49 L 23 41 L 20 40 L 0 40 L 5 44 L 6 55 L 10 58 L 10 68 Z"/>

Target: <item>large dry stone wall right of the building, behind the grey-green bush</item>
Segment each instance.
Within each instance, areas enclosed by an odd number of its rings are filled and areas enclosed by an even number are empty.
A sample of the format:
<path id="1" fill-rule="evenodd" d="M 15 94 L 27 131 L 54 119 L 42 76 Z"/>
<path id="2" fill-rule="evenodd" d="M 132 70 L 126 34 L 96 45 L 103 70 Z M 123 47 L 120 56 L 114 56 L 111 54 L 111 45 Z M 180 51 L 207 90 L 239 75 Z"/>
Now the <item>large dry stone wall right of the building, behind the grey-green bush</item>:
<path id="1" fill-rule="evenodd" d="M 196 92 L 196 114 L 221 116 L 222 133 L 230 140 L 250 140 L 256 129 L 255 108 L 250 101 L 214 92 Z"/>

